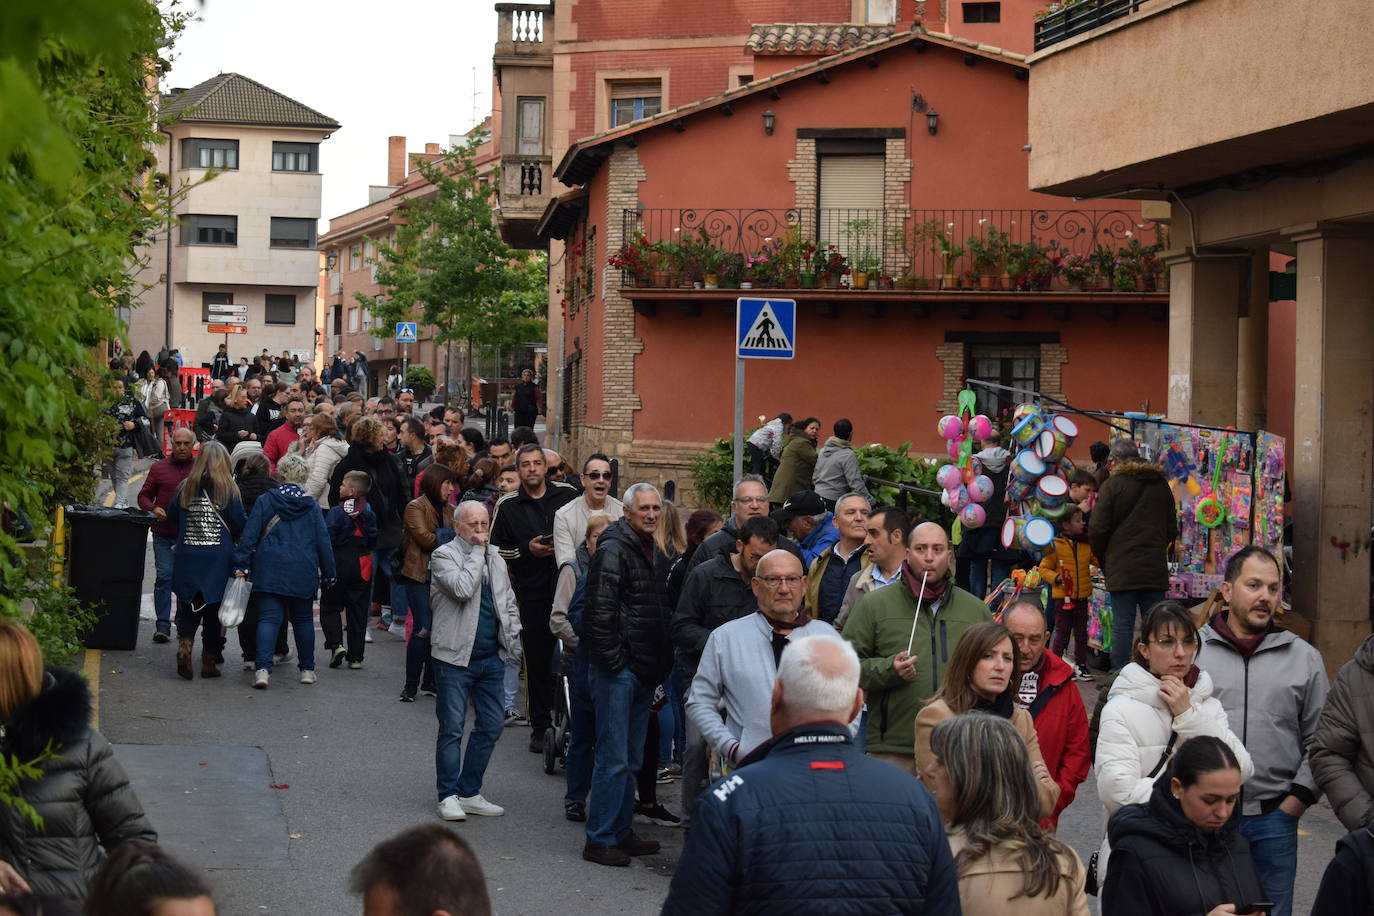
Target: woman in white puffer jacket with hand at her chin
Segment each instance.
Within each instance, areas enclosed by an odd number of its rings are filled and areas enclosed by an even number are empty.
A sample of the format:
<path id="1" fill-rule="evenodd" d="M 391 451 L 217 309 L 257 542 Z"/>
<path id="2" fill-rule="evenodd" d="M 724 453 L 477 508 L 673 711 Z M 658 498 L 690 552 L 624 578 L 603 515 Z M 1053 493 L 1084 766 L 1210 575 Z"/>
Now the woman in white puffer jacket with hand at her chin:
<path id="1" fill-rule="evenodd" d="M 1198 630 L 1180 602 L 1160 602 L 1140 625 L 1135 659 L 1121 669 L 1098 721 L 1098 797 L 1103 824 L 1123 805 L 1150 801 L 1156 777 L 1183 742 L 1212 735 L 1227 743 L 1241 764 L 1242 781 L 1254 766 L 1231 731 L 1212 678 L 1194 665 Z M 1172 736 L 1172 742 L 1171 742 Z M 1098 850 L 1098 886 L 1106 880 L 1110 849 Z"/>

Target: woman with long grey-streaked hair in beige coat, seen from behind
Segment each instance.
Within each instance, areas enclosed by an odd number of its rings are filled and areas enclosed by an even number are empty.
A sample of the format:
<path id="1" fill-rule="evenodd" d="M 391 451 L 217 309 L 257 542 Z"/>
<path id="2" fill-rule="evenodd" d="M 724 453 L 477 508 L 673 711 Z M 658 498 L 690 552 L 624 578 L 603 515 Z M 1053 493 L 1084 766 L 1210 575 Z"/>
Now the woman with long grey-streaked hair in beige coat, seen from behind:
<path id="1" fill-rule="evenodd" d="M 944 720 L 930 731 L 923 776 L 949 829 L 965 916 L 1088 915 L 1083 862 L 1040 827 L 1039 780 L 1011 722 Z"/>

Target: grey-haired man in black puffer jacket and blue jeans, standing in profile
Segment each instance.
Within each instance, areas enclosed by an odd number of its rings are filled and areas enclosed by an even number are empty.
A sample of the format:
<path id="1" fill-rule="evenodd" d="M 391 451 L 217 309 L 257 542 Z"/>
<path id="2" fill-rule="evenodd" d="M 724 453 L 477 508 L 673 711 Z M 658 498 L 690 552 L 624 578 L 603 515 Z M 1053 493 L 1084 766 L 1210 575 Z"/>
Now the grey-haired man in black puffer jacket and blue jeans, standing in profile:
<path id="1" fill-rule="evenodd" d="M 662 559 L 654 547 L 662 500 L 651 485 L 635 483 L 624 501 L 625 518 L 596 541 L 583 611 L 596 710 L 596 768 L 583 858 L 598 865 L 628 865 L 631 856 L 658 851 L 658 843 L 638 838 L 629 825 L 649 707 L 673 661 L 672 604 L 655 573 Z"/>

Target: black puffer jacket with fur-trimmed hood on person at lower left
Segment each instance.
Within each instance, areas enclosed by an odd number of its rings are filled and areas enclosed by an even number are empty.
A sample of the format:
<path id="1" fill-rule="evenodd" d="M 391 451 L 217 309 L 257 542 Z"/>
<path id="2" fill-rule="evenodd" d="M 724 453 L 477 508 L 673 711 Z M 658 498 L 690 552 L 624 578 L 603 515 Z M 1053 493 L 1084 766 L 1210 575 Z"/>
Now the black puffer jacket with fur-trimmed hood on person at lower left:
<path id="1" fill-rule="evenodd" d="M 8 715 L 0 710 L 0 753 L 19 761 L 38 758 L 49 744 L 56 753 L 38 764 L 41 779 L 15 790 L 43 818 L 41 828 L 12 805 L 0 805 L 0 861 L 36 894 L 80 901 L 107 851 L 129 840 L 157 843 L 158 835 L 110 742 L 91 729 L 85 680 L 60 667 L 49 667 L 43 680 L 37 696 Z"/>

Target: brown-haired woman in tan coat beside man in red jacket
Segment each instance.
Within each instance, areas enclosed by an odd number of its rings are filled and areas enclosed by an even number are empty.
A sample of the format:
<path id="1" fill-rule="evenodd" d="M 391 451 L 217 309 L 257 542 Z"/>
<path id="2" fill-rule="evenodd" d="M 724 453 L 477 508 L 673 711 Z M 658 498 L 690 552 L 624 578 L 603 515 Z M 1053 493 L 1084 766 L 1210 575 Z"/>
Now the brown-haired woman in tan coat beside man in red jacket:
<path id="1" fill-rule="evenodd" d="M 1017 709 L 1011 702 L 1015 691 L 1011 678 L 1015 661 L 1011 630 L 1002 623 L 991 621 L 974 623 L 965 632 L 954 648 L 954 655 L 949 656 L 944 683 L 916 715 L 916 773 L 926 783 L 926 788 L 933 790 L 926 768 L 932 762 L 930 732 L 937 724 L 963 713 L 988 713 L 1011 722 L 1025 742 L 1030 769 L 1036 777 L 1039 817 L 1048 817 L 1054 813 L 1054 803 L 1059 801 L 1059 786 L 1050 777 L 1050 770 L 1040 755 L 1035 720 L 1030 718 L 1030 713 Z"/>

